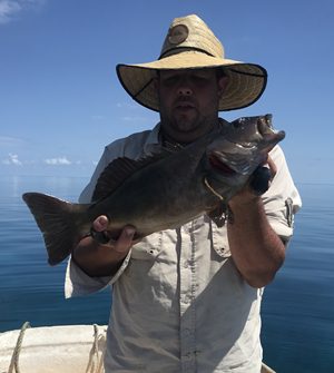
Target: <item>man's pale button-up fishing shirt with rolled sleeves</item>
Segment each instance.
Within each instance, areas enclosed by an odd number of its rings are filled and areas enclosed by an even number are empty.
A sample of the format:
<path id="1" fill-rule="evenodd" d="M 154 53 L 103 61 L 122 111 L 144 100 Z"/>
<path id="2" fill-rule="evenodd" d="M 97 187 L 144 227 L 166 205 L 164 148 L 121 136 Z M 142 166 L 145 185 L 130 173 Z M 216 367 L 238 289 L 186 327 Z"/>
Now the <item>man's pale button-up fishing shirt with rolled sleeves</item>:
<path id="1" fill-rule="evenodd" d="M 112 159 L 157 151 L 158 132 L 156 126 L 108 145 L 80 202 L 90 200 Z M 288 241 L 301 198 L 278 146 L 271 157 L 278 171 L 263 200 L 272 227 Z M 226 227 L 217 228 L 206 215 L 146 237 L 112 277 L 89 277 L 69 261 L 67 297 L 107 285 L 112 285 L 107 373 L 259 373 L 263 289 L 244 281 L 230 256 Z"/>

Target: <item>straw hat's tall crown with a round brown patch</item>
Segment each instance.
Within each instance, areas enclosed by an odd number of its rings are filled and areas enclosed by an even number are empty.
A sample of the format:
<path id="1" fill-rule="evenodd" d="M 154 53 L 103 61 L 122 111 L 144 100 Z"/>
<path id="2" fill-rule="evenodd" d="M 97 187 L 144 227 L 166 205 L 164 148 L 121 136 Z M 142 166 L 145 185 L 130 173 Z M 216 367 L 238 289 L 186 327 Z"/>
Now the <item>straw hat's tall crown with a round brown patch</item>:
<path id="1" fill-rule="evenodd" d="M 183 50 L 197 50 L 224 58 L 224 47 L 209 27 L 196 14 L 175 18 L 168 29 L 160 58 Z"/>

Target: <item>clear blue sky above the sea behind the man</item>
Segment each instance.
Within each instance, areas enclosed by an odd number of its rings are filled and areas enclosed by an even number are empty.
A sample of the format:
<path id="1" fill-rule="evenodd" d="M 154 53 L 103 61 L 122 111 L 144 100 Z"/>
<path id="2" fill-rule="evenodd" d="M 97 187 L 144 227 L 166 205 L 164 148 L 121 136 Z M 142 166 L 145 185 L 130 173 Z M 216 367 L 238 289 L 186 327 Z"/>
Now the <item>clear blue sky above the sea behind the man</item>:
<path id="1" fill-rule="evenodd" d="M 0 176 L 90 176 L 104 146 L 151 128 L 115 66 L 158 57 L 170 21 L 200 16 L 226 57 L 263 65 L 296 183 L 334 183 L 332 0 L 0 0 Z"/>

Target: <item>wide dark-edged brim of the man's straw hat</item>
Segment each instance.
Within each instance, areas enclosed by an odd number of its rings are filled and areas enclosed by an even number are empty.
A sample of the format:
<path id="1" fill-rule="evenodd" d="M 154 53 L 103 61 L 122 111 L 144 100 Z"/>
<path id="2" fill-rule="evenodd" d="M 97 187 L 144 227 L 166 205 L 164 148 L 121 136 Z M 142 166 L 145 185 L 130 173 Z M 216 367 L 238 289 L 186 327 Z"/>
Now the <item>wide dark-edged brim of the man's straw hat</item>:
<path id="1" fill-rule="evenodd" d="M 157 70 L 179 70 L 223 67 L 228 82 L 218 110 L 245 108 L 259 99 L 267 84 L 267 71 L 259 65 L 212 57 L 199 51 L 184 51 L 140 65 L 118 65 L 117 75 L 125 90 L 138 104 L 159 111 L 154 78 Z"/>

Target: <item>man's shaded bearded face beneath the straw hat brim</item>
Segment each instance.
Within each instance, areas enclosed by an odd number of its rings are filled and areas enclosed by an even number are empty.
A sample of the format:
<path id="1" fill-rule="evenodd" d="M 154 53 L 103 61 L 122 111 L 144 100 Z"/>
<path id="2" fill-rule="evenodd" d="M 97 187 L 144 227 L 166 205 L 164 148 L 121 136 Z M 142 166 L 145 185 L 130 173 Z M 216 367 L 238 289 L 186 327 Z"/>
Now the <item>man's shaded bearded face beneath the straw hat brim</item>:
<path id="1" fill-rule="evenodd" d="M 164 132 L 190 143 L 217 125 L 226 78 L 214 69 L 163 70 L 157 79 Z"/>

